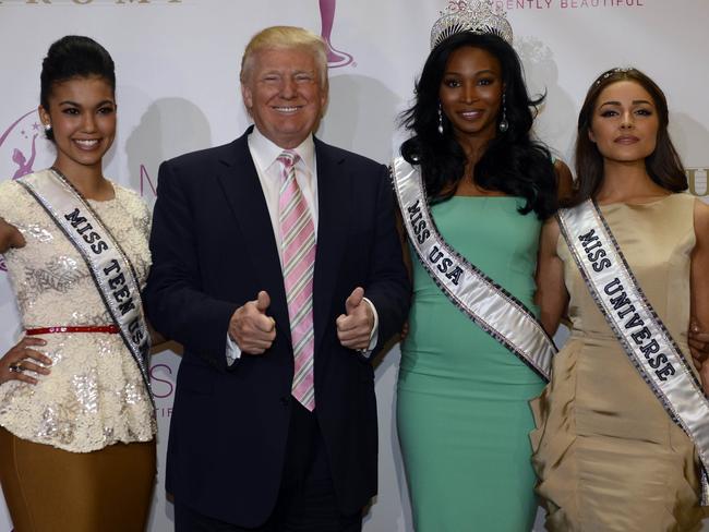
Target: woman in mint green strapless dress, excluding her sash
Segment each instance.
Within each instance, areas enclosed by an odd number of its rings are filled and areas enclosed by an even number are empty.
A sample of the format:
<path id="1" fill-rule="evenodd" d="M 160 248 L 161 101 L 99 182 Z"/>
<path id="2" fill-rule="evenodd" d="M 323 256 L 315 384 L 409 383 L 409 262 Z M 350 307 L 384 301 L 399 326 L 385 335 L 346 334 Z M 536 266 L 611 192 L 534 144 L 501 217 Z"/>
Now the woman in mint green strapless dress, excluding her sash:
<path id="1" fill-rule="evenodd" d="M 441 237 L 537 314 L 539 232 L 556 209 L 557 173 L 568 183 L 570 174 L 530 136 L 542 98 L 528 96 L 502 21 L 495 31 L 469 20 L 434 41 L 404 114 L 412 137 L 401 156 L 422 176 Z M 412 276 L 397 423 L 416 530 L 528 531 L 537 508 L 528 401 L 544 380 L 461 312 L 420 259 Z"/>

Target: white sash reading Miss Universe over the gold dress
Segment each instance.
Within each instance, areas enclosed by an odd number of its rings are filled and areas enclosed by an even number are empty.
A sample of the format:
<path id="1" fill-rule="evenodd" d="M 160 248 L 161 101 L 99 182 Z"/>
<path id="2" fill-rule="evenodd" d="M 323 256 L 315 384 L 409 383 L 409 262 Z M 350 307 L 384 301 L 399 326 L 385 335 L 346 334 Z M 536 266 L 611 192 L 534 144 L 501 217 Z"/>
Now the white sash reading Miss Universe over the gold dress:
<path id="1" fill-rule="evenodd" d="M 687 360 L 648 302 L 598 205 L 556 215 L 596 304 L 668 415 L 693 440 L 701 461 L 701 504 L 709 506 L 709 400 Z"/>

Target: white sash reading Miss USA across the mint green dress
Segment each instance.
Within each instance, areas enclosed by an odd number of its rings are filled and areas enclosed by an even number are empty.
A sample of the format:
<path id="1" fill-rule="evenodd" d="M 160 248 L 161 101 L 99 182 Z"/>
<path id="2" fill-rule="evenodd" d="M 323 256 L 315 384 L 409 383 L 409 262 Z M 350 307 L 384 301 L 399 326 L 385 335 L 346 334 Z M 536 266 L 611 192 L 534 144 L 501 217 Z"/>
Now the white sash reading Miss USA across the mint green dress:
<path id="1" fill-rule="evenodd" d="M 460 312 L 549 380 L 556 347 L 536 316 L 446 243 L 431 217 L 417 169 L 397 157 L 392 173 L 409 241 L 441 291 Z"/>

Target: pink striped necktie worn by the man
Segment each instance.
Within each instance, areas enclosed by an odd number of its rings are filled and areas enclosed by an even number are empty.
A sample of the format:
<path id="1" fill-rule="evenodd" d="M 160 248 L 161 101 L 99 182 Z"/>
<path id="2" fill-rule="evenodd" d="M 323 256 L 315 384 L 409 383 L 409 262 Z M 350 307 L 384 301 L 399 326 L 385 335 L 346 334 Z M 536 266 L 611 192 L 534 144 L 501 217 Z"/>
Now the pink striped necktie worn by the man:
<path id="1" fill-rule="evenodd" d="M 291 392 L 311 412 L 315 409 L 313 354 L 313 270 L 315 267 L 315 226 L 296 180 L 297 153 L 284 150 L 278 160 L 284 166 L 278 198 L 280 250 L 284 283 L 288 300 L 290 335 L 296 371 Z"/>

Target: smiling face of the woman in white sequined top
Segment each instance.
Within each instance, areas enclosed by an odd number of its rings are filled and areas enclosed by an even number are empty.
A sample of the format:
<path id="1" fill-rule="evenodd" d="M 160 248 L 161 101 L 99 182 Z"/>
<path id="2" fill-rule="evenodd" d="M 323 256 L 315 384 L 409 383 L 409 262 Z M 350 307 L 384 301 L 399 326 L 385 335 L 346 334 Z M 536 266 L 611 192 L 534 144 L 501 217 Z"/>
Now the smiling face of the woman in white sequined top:
<path id="1" fill-rule="evenodd" d="M 77 167 L 100 171 L 116 136 L 116 98 L 103 77 L 72 77 L 52 85 L 41 122 L 51 124 L 57 145 L 55 165 L 67 174 Z"/>

